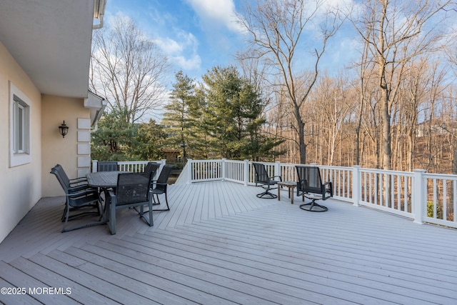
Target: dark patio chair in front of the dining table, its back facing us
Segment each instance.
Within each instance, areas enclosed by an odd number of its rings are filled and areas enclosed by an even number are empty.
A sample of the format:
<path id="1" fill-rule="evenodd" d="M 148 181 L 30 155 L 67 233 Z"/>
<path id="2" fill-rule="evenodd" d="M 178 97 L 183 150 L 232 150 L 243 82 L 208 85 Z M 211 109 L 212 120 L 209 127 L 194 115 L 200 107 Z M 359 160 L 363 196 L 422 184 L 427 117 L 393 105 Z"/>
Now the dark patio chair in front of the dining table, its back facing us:
<path id="1" fill-rule="evenodd" d="M 136 210 L 140 218 L 146 221 L 146 224 L 153 226 L 152 219 L 152 198 L 151 198 L 151 172 L 149 173 L 124 173 L 119 174 L 117 178 L 116 194 L 109 191 L 109 199 L 106 204 L 106 220 L 111 234 L 116 234 L 116 211 L 118 209 L 131 208 Z M 149 206 L 149 217 L 144 214 L 144 205 Z"/>

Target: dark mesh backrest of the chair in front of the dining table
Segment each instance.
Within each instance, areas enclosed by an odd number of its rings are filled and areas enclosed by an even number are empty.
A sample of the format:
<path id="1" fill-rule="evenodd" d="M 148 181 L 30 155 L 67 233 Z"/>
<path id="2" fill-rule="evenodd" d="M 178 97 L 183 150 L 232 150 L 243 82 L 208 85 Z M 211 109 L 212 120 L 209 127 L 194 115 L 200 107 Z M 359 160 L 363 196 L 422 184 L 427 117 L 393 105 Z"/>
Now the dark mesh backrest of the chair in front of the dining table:
<path id="1" fill-rule="evenodd" d="M 151 172 L 124 173 L 117 176 L 116 206 L 149 201 Z"/>

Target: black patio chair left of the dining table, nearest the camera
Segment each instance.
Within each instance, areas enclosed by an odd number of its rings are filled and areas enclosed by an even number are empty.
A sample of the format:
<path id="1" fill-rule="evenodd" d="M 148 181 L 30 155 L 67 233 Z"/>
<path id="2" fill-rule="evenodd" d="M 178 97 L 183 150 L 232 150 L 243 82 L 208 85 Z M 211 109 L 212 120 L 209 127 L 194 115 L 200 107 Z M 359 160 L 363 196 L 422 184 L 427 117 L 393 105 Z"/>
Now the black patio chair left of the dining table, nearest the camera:
<path id="1" fill-rule="evenodd" d="M 51 169 L 51 174 L 56 176 L 56 179 L 59 181 L 62 189 L 64 189 L 66 196 L 64 214 L 61 217 L 61 221 L 64 222 L 62 232 L 104 224 L 104 221 L 102 221 L 100 217 L 98 221 L 90 221 L 88 223 L 86 222 L 68 228 L 67 225 L 69 221 L 80 219 L 83 216 L 102 216 L 102 206 L 99 192 L 97 189 L 91 188 L 89 186 L 71 187 L 66 182 L 66 179 L 62 178 L 61 174 L 59 173 L 59 166 L 54 166 Z M 77 210 L 77 213 L 72 213 L 72 215 L 70 215 L 71 212 L 75 210 Z"/>

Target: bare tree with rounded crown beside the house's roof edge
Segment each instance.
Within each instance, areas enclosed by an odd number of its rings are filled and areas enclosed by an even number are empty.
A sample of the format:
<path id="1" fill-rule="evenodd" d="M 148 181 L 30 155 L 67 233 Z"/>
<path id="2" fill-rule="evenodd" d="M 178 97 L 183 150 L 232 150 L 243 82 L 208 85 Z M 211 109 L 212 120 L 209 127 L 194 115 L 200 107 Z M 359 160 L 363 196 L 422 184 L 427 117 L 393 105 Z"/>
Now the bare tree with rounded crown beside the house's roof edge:
<path id="1" fill-rule="evenodd" d="M 141 121 L 161 105 L 169 64 L 134 21 L 116 17 L 94 32 L 90 86 L 125 121 Z"/>

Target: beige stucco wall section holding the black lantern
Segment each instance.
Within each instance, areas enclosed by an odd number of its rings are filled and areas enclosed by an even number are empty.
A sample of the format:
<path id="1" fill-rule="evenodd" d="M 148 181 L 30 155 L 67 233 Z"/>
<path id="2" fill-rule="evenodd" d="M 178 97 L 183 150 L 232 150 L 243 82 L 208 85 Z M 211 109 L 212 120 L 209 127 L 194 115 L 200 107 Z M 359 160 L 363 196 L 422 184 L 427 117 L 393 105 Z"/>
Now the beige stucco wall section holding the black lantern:
<path id="1" fill-rule="evenodd" d="M 42 97 L 41 138 L 43 143 L 43 197 L 62 196 L 64 191 L 53 174 L 49 174 L 56 164 L 64 167 L 70 179 L 78 176 L 78 118 L 89 119 L 89 110 L 84 108 L 83 99 L 60 96 Z M 69 134 L 62 138 L 59 125 L 65 121 Z"/>

